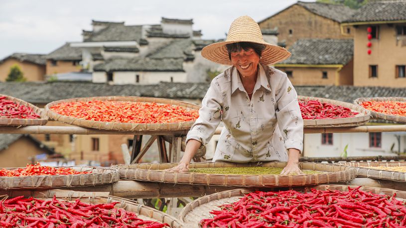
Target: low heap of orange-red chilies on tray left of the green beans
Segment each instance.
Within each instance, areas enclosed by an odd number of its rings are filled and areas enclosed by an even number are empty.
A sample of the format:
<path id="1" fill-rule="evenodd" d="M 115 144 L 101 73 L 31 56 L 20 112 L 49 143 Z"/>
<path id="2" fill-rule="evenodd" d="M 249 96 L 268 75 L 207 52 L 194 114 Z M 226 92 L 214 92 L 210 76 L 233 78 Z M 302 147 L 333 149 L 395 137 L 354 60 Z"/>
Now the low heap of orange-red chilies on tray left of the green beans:
<path id="1" fill-rule="evenodd" d="M 77 175 L 88 174 L 90 171 L 78 172 L 69 167 L 42 166 L 38 162 L 35 165 L 27 164 L 25 168 L 0 169 L 0 177 L 23 177 L 38 175 Z"/>

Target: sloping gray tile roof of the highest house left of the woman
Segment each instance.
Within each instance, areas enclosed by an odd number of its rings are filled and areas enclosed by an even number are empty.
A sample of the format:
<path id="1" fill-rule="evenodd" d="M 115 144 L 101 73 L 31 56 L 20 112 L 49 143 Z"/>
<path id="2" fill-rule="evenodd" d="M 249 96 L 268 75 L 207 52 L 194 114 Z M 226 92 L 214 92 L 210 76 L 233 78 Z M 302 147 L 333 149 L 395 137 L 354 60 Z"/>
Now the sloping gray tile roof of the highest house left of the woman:
<path id="1" fill-rule="evenodd" d="M 99 41 L 139 41 L 142 35 L 142 25 L 111 24 L 93 33 L 85 42 Z"/>

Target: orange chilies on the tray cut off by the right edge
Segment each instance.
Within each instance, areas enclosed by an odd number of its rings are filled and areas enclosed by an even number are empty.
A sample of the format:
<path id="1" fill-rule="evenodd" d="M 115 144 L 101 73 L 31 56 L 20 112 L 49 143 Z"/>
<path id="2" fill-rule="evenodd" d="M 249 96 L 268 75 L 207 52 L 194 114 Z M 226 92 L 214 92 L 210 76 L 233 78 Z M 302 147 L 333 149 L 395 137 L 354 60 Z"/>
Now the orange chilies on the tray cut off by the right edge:
<path id="1" fill-rule="evenodd" d="M 367 110 L 389 114 L 389 115 L 402 115 L 406 116 L 406 102 L 395 102 L 395 101 L 369 101 L 363 102 L 362 107 Z"/>

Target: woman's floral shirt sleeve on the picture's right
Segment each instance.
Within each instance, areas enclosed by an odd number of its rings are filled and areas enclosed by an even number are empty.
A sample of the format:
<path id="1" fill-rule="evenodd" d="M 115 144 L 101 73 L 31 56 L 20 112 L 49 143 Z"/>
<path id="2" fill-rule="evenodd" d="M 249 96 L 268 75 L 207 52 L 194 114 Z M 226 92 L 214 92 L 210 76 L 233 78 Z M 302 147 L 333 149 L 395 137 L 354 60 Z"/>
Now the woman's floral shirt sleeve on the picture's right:
<path id="1" fill-rule="evenodd" d="M 286 149 L 303 151 L 303 119 L 297 101 L 297 93 L 284 74 L 275 93 L 276 118 Z"/>

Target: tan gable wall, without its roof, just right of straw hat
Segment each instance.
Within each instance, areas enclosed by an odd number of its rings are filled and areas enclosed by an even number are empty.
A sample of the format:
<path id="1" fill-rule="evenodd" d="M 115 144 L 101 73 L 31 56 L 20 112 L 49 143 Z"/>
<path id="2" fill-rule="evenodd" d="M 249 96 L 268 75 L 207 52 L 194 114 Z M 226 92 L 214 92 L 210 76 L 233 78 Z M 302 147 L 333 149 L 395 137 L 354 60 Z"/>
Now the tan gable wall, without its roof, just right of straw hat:
<path id="1" fill-rule="evenodd" d="M 277 27 L 278 41 L 285 40 L 287 48 L 300 38 L 352 38 L 341 35 L 338 22 L 314 14 L 297 4 L 260 22 L 259 25 L 261 28 Z M 289 34 L 289 29 L 292 30 L 292 34 Z"/>

